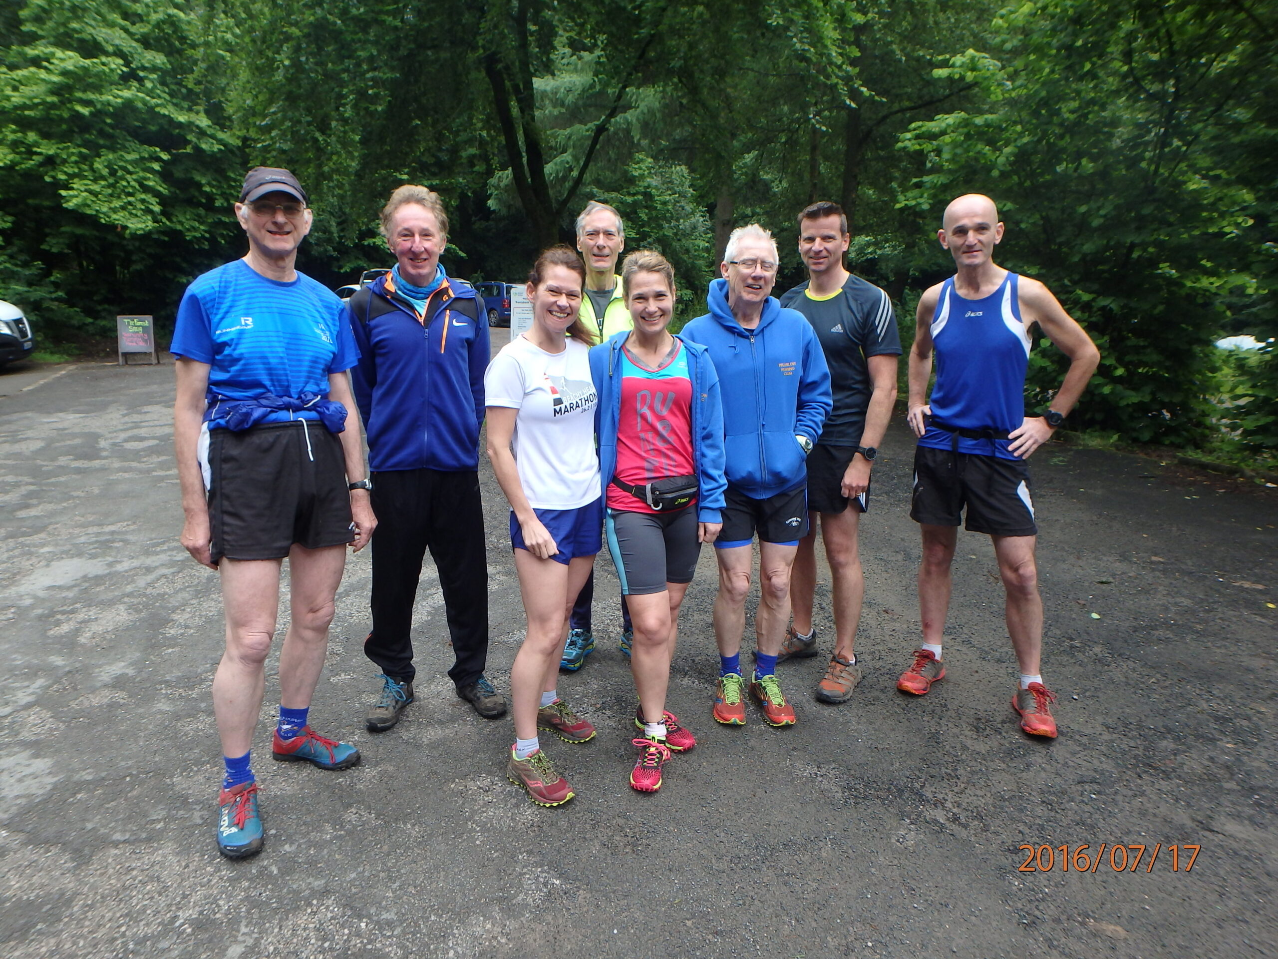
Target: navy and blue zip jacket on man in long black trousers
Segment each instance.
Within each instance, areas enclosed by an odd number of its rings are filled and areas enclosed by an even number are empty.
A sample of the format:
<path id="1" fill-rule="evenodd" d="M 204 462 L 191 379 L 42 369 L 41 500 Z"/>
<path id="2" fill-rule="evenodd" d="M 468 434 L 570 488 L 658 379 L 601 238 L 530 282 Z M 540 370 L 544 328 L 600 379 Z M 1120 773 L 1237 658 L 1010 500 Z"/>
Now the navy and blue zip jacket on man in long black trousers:
<path id="1" fill-rule="evenodd" d="M 387 292 L 386 279 L 373 280 L 371 293 L 394 304 L 394 312 L 364 322 L 346 304 L 360 353 L 350 380 L 368 433 L 368 467 L 478 469 L 488 326 L 450 308 L 458 299 L 475 299 L 474 286 L 445 277 L 449 289 L 431 300 L 423 324 L 408 300 Z M 482 318 L 482 300 L 478 306 Z"/>

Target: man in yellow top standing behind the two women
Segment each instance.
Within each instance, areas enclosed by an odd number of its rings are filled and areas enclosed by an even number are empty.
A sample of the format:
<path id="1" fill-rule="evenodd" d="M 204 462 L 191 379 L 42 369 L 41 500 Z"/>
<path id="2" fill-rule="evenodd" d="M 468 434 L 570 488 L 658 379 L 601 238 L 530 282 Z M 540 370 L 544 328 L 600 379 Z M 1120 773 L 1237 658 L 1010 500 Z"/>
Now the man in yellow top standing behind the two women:
<path id="1" fill-rule="evenodd" d="M 633 326 L 630 311 L 621 295 L 621 277 L 617 276 L 617 257 L 626 248 L 626 228 L 621 214 L 607 203 L 590 201 L 576 217 L 576 249 L 585 263 L 585 295 L 579 315 L 581 326 L 594 343 L 604 343 L 612 334 Z M 573 604 L 569 618 L 567 643 L 560 669 L 576 673 L 585 665 L 585 657 L 594 651 L 590 605 L 594 602 L 594 570 Z M 621 652 L 630 655 L 634 628 L 630 611 L 621 600 Z"/>

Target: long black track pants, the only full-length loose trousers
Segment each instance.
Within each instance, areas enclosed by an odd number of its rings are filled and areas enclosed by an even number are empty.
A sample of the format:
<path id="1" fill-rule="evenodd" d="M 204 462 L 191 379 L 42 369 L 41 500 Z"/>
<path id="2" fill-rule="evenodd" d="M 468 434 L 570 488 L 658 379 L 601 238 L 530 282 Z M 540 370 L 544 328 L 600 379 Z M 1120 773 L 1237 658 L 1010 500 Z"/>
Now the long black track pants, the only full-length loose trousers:
<path id="1" fill-rule="evenodd" d="M 488 659 L 488 556 L 479 474 L 437 469 L 373 473 L 373 630 L 364 655 L 382 673 L 412 680 L 413 604 L 426 550 L 440 574 L 456 685 L 475 682 Z"/>

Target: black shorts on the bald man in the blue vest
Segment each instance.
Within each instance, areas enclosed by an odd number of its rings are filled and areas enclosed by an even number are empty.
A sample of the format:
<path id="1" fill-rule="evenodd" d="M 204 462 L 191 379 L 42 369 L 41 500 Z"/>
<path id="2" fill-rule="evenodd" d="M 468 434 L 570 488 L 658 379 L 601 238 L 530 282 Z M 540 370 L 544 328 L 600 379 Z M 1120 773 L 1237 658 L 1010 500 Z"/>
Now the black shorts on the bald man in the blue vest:
<path id="1" fill-rule="evenodd" d="M 990 536 L 1035 536 L 1030 468 L 1024 460 L 929 446 L 914 450 L 910 518 L 929 526 L 958 526 Z"/>

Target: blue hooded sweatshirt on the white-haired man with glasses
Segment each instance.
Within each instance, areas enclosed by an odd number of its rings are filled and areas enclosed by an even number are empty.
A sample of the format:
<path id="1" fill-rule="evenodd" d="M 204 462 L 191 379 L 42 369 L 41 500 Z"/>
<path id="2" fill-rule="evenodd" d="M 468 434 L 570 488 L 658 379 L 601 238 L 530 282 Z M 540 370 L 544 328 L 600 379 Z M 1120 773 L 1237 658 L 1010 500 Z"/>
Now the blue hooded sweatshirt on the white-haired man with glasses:
<path id="1" fill-rule="evenodd" d="M 690 321 L 684 340 L 703 344 L 718 371 L 723 404 L 727 481 L 764 500 L 808 480 L 806 456 L 795 436 L 813 442 L 829 416 L 829 368 L 812 324 L 776 297 L 763 304 L 759 325 L 743 329 L 727 304 L 727 280 L 711 283 L 711 312 Z"/>

